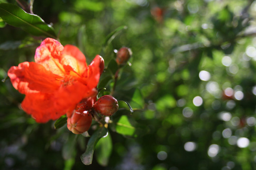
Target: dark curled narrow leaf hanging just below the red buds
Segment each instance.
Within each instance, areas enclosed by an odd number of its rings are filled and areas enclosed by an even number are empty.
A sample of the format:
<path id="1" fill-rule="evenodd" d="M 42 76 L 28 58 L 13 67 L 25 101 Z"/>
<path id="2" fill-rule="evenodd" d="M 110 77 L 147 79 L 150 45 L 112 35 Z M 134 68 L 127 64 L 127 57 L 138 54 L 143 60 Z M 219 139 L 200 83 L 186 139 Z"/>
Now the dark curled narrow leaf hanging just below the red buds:
<path id="1" fill-rule="evenodd" d="M 90 137 L 86 147 L 86 151 L 80 157 L 83 164 L 85 165 L 91 164 L 95 145 L 100 140 L 100 138 L 105 136 L 107 133 L 108 133 L 108 130 L 105 127 L 101 127 Z"/>

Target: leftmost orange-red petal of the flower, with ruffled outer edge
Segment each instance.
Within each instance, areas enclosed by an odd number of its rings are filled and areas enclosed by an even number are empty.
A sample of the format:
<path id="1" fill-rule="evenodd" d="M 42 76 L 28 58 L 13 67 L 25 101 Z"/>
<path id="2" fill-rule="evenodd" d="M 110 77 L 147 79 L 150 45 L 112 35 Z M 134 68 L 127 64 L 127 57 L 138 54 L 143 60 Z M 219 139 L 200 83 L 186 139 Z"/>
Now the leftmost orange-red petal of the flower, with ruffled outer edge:
<path id="1" fill-rule="evenodd" d="M 23 94 L 36 91 L 51 93 L 59 88 L 60 82 L 56 79 L 61 78 L 35 62 L 23 62 L 18 67 L 11 67 L 8 76 L 14 88 Z"/>

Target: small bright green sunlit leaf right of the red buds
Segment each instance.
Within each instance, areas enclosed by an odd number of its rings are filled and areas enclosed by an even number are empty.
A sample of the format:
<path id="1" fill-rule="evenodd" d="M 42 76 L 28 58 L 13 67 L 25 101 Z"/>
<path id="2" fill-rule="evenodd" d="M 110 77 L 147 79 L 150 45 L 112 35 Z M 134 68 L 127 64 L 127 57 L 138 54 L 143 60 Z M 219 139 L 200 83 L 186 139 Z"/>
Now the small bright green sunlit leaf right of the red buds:
<path id="1" fill-rule="evenodd" d="M 122 135 L 133 136 L 135 127 L 131 125 L 128 117 L 123 115 L 116 124 L 116 132 Z"/>

